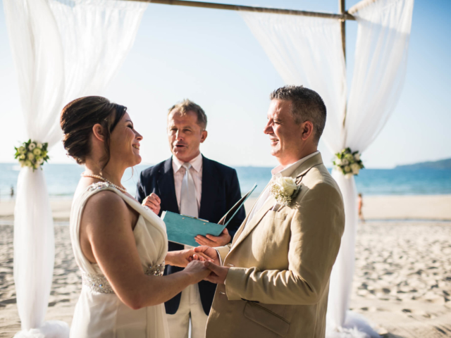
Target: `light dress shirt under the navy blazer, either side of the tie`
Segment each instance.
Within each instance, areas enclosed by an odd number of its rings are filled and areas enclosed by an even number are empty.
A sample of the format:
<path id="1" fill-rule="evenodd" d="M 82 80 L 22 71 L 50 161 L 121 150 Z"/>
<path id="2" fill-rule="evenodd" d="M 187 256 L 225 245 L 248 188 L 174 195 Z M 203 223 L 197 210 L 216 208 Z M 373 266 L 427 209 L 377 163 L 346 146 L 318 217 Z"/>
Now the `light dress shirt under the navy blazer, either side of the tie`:
<path id="1" fill-rule="evenodd" d="M 178 210 L 180 210 L 180 194 L 182 192 L 182 181 L 185 175 L 185 167 L 183 163 L 175 156 L 172 156 L 172 168 L 174 171 L 175 196 L 177 197 Z M 202 154 L 194 157 L 191 161 L 190 173 L 194 181 L 194 188 L 196 189 L 197 213 L 200 211 L 200 200 L 202 199 Z"/>

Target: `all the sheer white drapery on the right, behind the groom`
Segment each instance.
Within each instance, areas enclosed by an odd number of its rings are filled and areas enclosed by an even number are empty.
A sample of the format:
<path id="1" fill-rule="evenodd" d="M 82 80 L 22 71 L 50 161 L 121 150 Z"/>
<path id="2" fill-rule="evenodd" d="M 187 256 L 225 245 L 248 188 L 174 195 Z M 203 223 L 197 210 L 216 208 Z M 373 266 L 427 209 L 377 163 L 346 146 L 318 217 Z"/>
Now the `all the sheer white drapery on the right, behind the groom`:
<path id="1" fill-rule="evenodd" d="M 338 20 L 240 13 L 285 83 L 303 84 L 323 97 L 328 109 L 323 140 L 333 153 L 347 146 L 362 152 L 373 142 L 393 113 L 405 77 L 414 0 L 366 0 L 361 5 L 354 13 L 357 45 L 345 124 L 345 60 Z M 357 188 L 354 177 L 335 170 L 333 177 L 345 201 L 346 225 L 330 277 L 327 337 L 378 337 L 362 316 L 347 311 L 354 275 Z"/>

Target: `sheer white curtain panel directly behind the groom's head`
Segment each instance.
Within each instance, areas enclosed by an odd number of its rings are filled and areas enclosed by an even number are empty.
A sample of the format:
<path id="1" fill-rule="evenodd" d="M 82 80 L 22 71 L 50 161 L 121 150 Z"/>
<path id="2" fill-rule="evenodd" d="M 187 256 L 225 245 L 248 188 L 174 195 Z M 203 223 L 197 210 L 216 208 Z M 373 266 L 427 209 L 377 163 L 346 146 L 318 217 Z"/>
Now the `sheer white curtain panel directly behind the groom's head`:
<path id="1" fill-rule="evenodd" d="M 340 22 L 245 11 L 240 15 L 285 84 L 302 84 L 321 95 L 328 114 L 323 140 L 333 153 L 340 150 L 347 90 Z"/>

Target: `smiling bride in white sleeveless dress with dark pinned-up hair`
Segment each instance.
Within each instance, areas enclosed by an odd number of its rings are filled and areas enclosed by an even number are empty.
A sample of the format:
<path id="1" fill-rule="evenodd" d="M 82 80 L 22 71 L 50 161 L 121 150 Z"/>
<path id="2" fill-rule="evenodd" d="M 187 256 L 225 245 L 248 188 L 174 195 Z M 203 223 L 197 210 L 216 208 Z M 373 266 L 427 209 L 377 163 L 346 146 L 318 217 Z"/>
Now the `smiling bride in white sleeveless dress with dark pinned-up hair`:
<path id="1" fill-rule="evenodd" d="M 168 252 L 163 221 L 121 185 L 141 162 L 142 136 L 127 108 L 100 96 L 61 112 L 63 144 L 85 165 L 70 215 L 70 239 L 82 272 L 73 338 L 168 337 L 163 303 L 209 275 L 194 251 Z M 165 261 L 185 267 L 163 276 Z"/>

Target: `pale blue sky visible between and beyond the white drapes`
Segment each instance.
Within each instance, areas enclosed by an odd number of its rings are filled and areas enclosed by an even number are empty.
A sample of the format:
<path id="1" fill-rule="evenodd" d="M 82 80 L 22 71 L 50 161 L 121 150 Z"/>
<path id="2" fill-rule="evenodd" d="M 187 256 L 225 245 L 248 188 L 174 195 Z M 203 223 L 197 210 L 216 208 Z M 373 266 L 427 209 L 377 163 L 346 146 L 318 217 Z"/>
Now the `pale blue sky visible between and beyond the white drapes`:
<path id="1" fill-rule="evenodd" d="M 337 0 L 221 2 L 338 11 Z M 357 2 L 348 0 L 347 8 Z M 363 155 L 367 168 L 451 157 L 450 15 L 449 0 L 416 0 L 404 89 L 387 125 Z M 357 23 L 347 22 L 348 83 L 356 35 Z M 143 163 L 170 156 L 167 109 L 189 98 L 209 118 L 209 137 L 201 148 L 205 156 L 228 165 L 273 166 L 276 161 L 262 130 L 268 94 L 283 84 L 238 13 L 149 4 L 132 51 L 101 94 L 128 106 L 135 127 L 144 135 Z M 23 141 L 25 132 L 3 6 L 0 93 L 0 162 L 12 162 L 13 146 Z M 320 150 L 328 164 L 332 154 L 323 144 Z M 70 162 L 61 144 L 50 155 L 52 163 Z"/>

